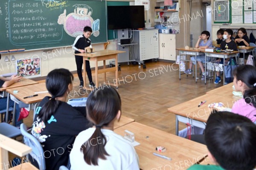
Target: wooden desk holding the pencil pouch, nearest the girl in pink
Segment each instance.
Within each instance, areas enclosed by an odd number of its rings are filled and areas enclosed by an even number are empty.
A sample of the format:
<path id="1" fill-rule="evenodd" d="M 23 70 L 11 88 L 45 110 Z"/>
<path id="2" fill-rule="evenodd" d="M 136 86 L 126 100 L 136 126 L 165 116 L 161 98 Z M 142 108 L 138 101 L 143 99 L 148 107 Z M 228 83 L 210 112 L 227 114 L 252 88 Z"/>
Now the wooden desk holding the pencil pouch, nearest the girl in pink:
<path id="1" fill-rule="evenodd" d="M 218 93 L 221 93 L 221 91 Z M 221 102 L 224 104 L 224 107 L 231 109 L 233 104 L 237 101 L 233 98 L 218 95 L 218 93 L 216 95 L 202 95 L 167 109 L 169 112 L 176 115 L 176 135 L 178 135 L 179 131 L 179 121 L 189 123 L 196 127 L 205 128 L 207 119 L 209 118 L 210 113 L 214 110 L 213 108 L 208 107 L 209 104 Z M 198 107 L 201 101 L 207 102 Z"/>

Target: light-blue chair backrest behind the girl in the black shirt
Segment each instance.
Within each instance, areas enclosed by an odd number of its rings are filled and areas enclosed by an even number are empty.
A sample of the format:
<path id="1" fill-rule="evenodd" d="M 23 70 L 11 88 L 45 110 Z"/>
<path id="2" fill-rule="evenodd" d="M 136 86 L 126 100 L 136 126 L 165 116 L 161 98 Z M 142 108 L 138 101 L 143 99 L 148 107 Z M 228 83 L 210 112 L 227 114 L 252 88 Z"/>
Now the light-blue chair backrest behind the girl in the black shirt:
<path id="1" fill-rule="evenodd" d="M 45 159 L 44 150 L 40 142 L 31 134 L 27 132 L 27 127 L 25 124 L 20 125 L 21 134 L 24 136 L 24 143 L 32 148 L 32 152 L 29 155 L 32 157 L 33 161 L 37 161 L 39 170 L 45 170 Z"/>

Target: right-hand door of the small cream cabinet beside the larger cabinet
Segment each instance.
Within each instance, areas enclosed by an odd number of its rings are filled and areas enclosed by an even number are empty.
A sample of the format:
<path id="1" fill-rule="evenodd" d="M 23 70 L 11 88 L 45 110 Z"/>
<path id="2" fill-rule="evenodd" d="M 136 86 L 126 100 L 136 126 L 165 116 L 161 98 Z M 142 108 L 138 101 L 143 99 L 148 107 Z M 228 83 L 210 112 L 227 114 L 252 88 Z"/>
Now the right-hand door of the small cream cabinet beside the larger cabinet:
<path id="1" fill-rule="evenodd" d="M 176 60 L 176 35 L 165 34 L 163 35 L 163 59 L 165 60 Z"/>

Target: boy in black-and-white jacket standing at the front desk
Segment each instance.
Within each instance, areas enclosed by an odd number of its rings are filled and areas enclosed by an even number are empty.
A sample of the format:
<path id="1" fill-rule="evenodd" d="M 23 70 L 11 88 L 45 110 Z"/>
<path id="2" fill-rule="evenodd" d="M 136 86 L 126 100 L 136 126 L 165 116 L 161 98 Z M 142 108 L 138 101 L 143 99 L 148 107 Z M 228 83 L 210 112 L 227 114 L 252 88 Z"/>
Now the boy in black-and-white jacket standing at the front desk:
<path id="1" fill-rule="evenodd" d="M 84 48 L 91 45 L 91 40 L 89 39 L 89 37 L 92 34 L 92 32 L 93 30 L 91 29 L 90 26 L 85 26 L 83 35 L 79 35 L 78 37 L 76 37 L 76 40 L 72 45 L 72 48 L 76 50 L 75 54 L 84 53 L 85 52 Z M 83 87 L 84 86 L 84 79 L 82 74 L 83 57 L 79 55 L 75 55 L 75 58 L 76 58 L 77 75 L 80 80 L 79 87 Z M 85 64 L 86 64 L 86 73 L 90 82 L 89 86 L 95 87 L 95 84 L 93 83 L 92 72 L 90 69 L 90 62 L 85 61 Z"/>

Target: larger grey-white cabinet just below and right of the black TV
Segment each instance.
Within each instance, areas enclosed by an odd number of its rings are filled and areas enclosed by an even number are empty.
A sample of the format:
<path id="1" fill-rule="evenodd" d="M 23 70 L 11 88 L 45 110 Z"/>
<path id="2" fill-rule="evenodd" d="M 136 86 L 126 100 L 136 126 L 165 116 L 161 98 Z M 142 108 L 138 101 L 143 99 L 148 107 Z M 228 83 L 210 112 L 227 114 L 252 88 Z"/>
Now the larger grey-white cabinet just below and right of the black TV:
<path id="1" fill-rule="evenodd" d="M 134 52 L 131 51 L 134 59 L 143 61 L 159 58 L 158 29 L 134 30 L 132 43 L 138 43 L 137 46 L 134 46 Z"/>

